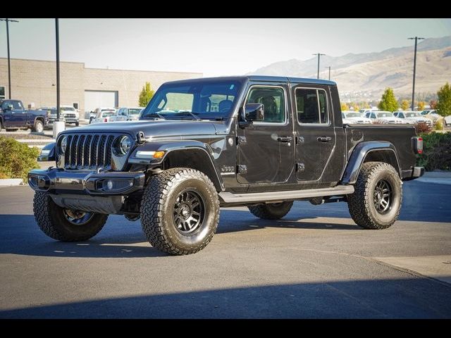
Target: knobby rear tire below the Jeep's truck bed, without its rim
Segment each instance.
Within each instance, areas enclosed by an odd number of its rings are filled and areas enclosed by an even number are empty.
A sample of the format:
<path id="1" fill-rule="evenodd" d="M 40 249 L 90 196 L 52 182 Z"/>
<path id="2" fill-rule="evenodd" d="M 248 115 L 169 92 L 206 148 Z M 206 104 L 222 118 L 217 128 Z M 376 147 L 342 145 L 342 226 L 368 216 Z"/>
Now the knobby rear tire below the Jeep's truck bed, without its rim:
<path id="1" fill-rule="evenodd" d="M 391 206 L 387 213 L 378 213 L 375 206 L 376 184 L 388 182 L 392 189 Z M 352 220 L 364 229 L 386 229 L 393 225 L 400 215 L 402 205 L 402 182 L 395 168 L 388 163 L 367 162 L 354 185 L 354 193 L 347 195 L 347 206 Z"/>

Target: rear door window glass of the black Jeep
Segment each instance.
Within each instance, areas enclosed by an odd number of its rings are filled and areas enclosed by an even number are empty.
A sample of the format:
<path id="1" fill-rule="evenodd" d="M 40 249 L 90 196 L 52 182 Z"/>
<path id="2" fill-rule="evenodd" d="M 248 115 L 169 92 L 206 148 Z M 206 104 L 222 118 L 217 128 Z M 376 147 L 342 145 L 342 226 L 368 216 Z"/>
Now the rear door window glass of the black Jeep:
<path id="1" fill-rule="evenodd" d="M 296 89 L 297 120 L 299 123 L 328 123 L 326 92 L 322 89 Z"/>

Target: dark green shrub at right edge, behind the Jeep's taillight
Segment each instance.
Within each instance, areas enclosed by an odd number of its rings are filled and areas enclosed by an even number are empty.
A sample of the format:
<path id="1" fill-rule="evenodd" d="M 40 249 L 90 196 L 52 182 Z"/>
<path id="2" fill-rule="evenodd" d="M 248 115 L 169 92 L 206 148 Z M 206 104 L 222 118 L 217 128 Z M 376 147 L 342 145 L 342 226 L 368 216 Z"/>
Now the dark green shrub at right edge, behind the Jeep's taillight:
<path id="1" fill-rule="evenodd" d="M 451 170 L 451 132 L 421 134 L 423 154 L 416 159 L 416 165 L 431 171 Z"/>

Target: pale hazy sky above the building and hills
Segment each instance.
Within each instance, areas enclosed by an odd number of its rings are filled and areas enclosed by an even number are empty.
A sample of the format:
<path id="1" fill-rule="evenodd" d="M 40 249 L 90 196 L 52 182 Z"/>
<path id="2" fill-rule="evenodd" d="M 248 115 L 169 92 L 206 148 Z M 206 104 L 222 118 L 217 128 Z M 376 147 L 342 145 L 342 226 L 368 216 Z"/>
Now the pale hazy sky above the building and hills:
<path id="1" fill-rule="evenodd" d="M 54 60 L 54 19 L 10 24 L 12 58 Z M 451 35 L 451 19 L 60 19 L 61 61 L 92 68 L 239 75 L 276 61 L 409 46 Z M 0 57 L 6 27 L 0 22 Z"/>

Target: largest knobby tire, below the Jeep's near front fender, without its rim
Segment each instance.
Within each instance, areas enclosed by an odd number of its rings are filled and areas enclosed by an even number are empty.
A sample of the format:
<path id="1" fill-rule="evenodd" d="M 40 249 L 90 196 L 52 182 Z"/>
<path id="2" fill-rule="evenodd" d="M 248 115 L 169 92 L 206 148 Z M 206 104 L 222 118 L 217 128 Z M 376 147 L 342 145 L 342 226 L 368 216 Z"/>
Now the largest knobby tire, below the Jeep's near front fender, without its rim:
<path id="1" fill-rule="evenodd" d="M 204 203 L 202 223 L 198 230 L 185 235 L 174 220 L 178 196 L 192 189 Z M 204 249 L 214 236 L 219 222 L 218 194 L 209 177 L 190 168 L 172 168 L 154 175 L 144 190 L 141 203 L 141 225 L 154 248 L 171 255 L 187 255 Z"/>

